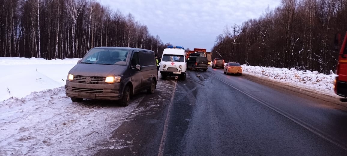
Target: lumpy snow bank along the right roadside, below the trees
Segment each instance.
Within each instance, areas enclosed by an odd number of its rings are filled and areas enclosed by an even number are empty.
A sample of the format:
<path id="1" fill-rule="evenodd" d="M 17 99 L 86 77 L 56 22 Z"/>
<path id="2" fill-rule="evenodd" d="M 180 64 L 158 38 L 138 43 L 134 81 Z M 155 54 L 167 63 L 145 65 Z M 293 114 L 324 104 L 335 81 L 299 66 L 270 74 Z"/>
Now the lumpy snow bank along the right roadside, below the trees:
<path id="1" fill-rule="evenodd" d="M 254 67 L 242 65 L 245 72 L 262 75 L 269 78 L 286 81 L 290 83 L 304 84 L 311 87 L 333 89 L 335 77 L 337 76 L 332 71 L 330 75 L 319 73 L 318 71 L 297 71 L 295 68 L 272 68 L 272 67 Z"/>

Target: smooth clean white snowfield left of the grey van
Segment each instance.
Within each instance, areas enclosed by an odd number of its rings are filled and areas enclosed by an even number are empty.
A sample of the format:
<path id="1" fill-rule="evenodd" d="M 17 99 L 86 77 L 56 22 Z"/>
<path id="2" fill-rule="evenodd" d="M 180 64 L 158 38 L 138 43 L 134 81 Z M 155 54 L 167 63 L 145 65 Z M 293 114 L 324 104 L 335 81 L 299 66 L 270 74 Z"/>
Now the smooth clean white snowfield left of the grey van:
<path id="1" fill-rule="evenodd" d="M 64 86 L 69 70 L 78 60 L 0 57 L 0 101 Z"/>

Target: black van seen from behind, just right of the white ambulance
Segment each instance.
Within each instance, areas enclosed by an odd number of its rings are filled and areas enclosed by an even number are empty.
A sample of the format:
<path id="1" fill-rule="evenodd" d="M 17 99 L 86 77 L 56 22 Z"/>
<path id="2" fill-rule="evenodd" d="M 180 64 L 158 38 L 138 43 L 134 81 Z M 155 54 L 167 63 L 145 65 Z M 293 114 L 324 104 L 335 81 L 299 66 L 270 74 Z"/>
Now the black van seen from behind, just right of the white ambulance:
<path id="1" fill-rule="evenodd" d="M 187 59 L 187 69 L 206 71 L 208 69 L 207 57 L 189 57 Z"/>

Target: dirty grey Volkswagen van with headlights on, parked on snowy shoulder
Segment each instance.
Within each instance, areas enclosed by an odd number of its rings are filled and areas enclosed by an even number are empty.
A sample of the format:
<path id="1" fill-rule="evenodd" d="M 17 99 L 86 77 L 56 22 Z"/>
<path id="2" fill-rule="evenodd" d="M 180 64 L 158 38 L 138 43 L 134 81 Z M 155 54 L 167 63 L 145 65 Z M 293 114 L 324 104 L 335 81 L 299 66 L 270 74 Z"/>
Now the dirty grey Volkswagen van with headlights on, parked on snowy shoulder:
<path id="1" fill-rule="evenodd" d="M 157 67 L 154 52 L 130 47 L 94 47 L 73 67 L 66 80 L 66 96 L 73 102 L 83 98 L 119 100 L 147 90 L 153 94 Z"/>

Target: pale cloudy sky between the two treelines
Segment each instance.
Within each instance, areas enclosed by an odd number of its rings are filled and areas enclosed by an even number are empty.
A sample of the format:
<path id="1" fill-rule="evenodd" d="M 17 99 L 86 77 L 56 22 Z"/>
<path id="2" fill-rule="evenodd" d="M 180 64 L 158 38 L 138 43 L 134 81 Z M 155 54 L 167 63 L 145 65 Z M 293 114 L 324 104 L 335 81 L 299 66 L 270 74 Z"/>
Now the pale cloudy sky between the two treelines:
<path id="1" fill-rule="evenodd" d="M 225 26 L 258 18 L 280 0 L 100 0 L 147 25 L 163 43 L 211 50 Z"/>

